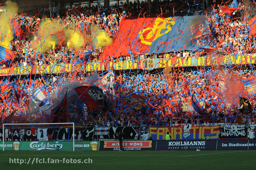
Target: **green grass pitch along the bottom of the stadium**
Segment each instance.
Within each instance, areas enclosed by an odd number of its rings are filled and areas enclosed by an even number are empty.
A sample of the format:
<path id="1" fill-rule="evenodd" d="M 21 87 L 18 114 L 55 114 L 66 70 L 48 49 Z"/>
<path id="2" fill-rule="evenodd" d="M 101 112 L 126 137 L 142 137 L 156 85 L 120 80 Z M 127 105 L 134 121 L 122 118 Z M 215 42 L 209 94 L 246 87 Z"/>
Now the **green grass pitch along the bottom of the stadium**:
<path id="1" fill-rule="evenodd" d="M 249 170 L 255 169 L 255 156 L 256 150 L 0 151 L 0 170 Z M 10 158 L 26 159 L 26 164 L 10 163 Z M 45 162 L 48 158 L 90 158 L 92 163 L 36 163 L 36 159 L 43 158 Z"/>

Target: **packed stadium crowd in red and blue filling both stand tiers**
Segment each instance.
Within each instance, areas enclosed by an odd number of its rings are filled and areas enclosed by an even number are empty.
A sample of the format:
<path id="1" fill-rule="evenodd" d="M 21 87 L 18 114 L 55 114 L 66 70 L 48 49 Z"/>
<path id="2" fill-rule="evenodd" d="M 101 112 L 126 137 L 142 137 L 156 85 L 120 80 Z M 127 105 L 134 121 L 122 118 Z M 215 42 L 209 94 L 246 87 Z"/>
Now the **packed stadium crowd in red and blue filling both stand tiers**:
<path id="1" fill-rule="evenodd" d="M 106 31 L 109 37 L 117 34 L 120 20 L 124 16 L 158 16 L 160 14 L 188 14 L 188 11 L 195 14 L 202 11 L 202 1 L 153 1 L 151 8 L 148 3 L 129 2 L 122 4 L 123 7 L 107 9 L 97 6 L 76 7 L 74 9 L 62 9 L 42 11 L 36 9 L 30 14 L 16 15 L 15 20 L 24 31 L 21 37 L 15 37 L 10 45 L 15 54 L 15 59 L 8 63 L 2 63 L 0 68 L 11 66 L 33 66 L 48 64 L 77 63 L 80 61 L 81 52 L 88 52 L 91 46 L 85 49 L 75 49 L 72 46 L 57 46 L 47 48 L 45 53 L 40 53 L 35 48 L 35 41 L 38 39 L 38 30 L 41 22 L 46 18 L 51 18 L 51 22 L 58 24 L 63 29 L 78 29 L 90 34 L 93 26 Z M 233 12 L 231 18 L 221 11 L 222 1 L 209 4 L 204 11 L 206 19 L 211 29 L 211 36 L 207 39 L 197 41 L 203 46 L 209 45 L 214 49 L 214 53 L 208 50 L 198 49 L 195 51 L 171 52 L 165 54 L 153 54 L 148 56 L 123 56 L 124 59 L 143 58 L 172 58 L 207 56 L 216 54 L 218 56 L 251 54 L 255 53 L 255 38 L 248 34 L 248 22 L 255 14 L 255 3 L 253 5 L 239 3 L 239 7 Z M 201 12 L 202 13 L 202 12 Z M 97 61 L 104 47 L 95 47 L 94 52 L 86 61 Z M 112 60 L 112 58 L 109 58 Z M 118 59 L 117 59 L 118 60 Z M 123 59 L 122 59 L 123 60 Z M 1 121 L 10 122 L 44 122 L 49 120 L 49 116 L 39 112 L 37 106 L 31 107 L 30 91 L 41 88 L 44 95 L 52 101 L 59 100 L 58 94 L 64 94 L 65 89 L 72 91 L 77 84 L 89 82 L 92 73 L 63 73 L 46 75 L 11 76 L 7 82 L 15 82 L 15 90 L 11 94 L 1 94 Z M 82 114 L 82 107 L 78 105 L 77 99 L 70 96 L 68 99 L 69 113 L 79 113 L 71 116 L 78 125 L 100 125 L 100 126 L 133 126 L 133 125 L 170 125 L 178 123 L 202 124 L 202 123 L 249 123 L 255 122 L 256 111 L 253 97 L 249 100 L 252 111 L 246 112 L 240 108 L 239 103 L 235 103 L 232 108 L 227 106 L 227 101 L 221 89 L 221 81 L 226 81 L 236 77 L 236 82 L 255 77 L 253 67 L 233 69 L 229 66 L 216 68 L 175 68 L 175 69 L 155 69 L 153 71 L 116 71 L 114 73 L 113 88 L 115 94 L 126 94 L 129 91 L 143 96 L 143 109 L 135 110 L 129 108 L 124 100 L 114 99 L 111 107 L 94 110 L 88 116 Z M 99 76 L 102 79 L 102 75 Z M 1 79 L 1 84 L 8 84 L 6 78 Z M 109 85 L 103 85 L 101 81 L 95 82 L 97 86 L 109 93 Z M 2 87 L 2 86 L 1 86 Z M 74 90 L 73 90 L 74 91 Z M 7 93 L 5 91 L 5 93 Z M 18 95 L 17 95 L 18 94 Z M 193 112 L 193 109 L 185 111 L 185 105 L 191 106 L 191 95 L 194 94 L 199 101 L 203 101 L 204 112 L 208 118 Z M 8 97 L 8 98 L 7 98 Z M 111 99 L 109 99 L 111 101 Z M 236 99 L 237 101 L 237 99 Z M 54 103 L 54 102 L 53 102 Z M 113 104 L 114 103 L 114 104 Z M 58 104 L 58 103 L 57 103 Z M 55 106 L 57 105 L 55 102 Z M 233 108 L 234 107 L 234 108 Z M 71 110 L 71 111 L 70 111 Z M 14 114 L 12 114 L 14 113 Z M 10 115 L 12 118 L 10 118 Z"/>

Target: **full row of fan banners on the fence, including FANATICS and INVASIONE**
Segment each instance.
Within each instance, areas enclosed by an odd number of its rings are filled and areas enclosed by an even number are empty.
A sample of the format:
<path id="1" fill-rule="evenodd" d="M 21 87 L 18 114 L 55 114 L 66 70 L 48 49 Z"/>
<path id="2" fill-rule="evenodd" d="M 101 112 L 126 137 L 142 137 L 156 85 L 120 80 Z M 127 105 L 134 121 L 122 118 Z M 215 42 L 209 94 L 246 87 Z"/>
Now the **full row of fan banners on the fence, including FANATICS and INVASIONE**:
<path id="1" fill-rule="evenodd" d="M 103 126 L 76 127 L 75 141 L 118 139 L 117 133 L 123 133 L 124 140 L 165 140 L 167 132 L 172 140 L 209 140 L 218 139 L 256 139 L 256 124 L 248 125 L 173 125 L 173 126 Z M 5 141 L 64 141 L 71 140 L 73 129 L 69 127 L 14 127 L 5 129 Z M 3 129 L 0 128 L 0 136 Z M 0 137 L 0 141 L 3 138 Z"/>

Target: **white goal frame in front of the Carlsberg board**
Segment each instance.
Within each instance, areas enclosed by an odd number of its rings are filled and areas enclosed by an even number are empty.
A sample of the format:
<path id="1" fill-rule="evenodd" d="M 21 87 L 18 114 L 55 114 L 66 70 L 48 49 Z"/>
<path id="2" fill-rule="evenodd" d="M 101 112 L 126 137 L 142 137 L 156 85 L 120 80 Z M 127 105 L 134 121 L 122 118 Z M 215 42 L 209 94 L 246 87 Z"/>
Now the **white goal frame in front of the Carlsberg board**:
<path id="1" fill-rule="evenodd" d="M 72 128 L 73 128 L 73 132 L 72 132 L 72 137 L 73 137 L 73 140 L 72 140 L 72 148 L 73 148 L 73 151 L 75 151 L 75 123 L 74 122 L 72 122 L 72 123 L 21 123 L 21 124 L 3 124 L 3 151 L 4 151 L 4 141 L 5 141 L 5 126 L 7 127 L 7 126 L 9 126 L 9 125 L 11 125 L 11 126 L 13 126 L 13 125 L 17 125 L 17 126 L 23 126 L 23 125 L 72 125 Z M 14 145 L 14 143 L 16 142 L 16 141 L 12 141 L 13 142 L 13 145 Z M 25 141 L 20 141 L 20 142 L 25 142 Z M 47 146 L 47 142 L 48 141 L 45 141 L 45 144 L 44 144 L 44 146 L 45 146 L 45 148 L 46 148 L 46 146 Z M 31 143 L 31 141 L 30 141 L 30 143 Z M 49 143 L 49 142 L 48 142 Z M 56 142 L 57 143 L 57 142 Z M 56 146 L 56 144 L 54 145 L 54 144 L 52 144 L 52 145 L 50 145 L 50 146 Z M 58 145 L 59 146 L 59 145 Z M 15 146 L 14 146 L 15 147 Z M 52 150 L 53 150 L 53 148 L 51 148 Z M 14 150 L 15 150 L 15 148 L 14 148 Z M 37 149 L 37 150 L 41 150 L 41 149 Z"/>

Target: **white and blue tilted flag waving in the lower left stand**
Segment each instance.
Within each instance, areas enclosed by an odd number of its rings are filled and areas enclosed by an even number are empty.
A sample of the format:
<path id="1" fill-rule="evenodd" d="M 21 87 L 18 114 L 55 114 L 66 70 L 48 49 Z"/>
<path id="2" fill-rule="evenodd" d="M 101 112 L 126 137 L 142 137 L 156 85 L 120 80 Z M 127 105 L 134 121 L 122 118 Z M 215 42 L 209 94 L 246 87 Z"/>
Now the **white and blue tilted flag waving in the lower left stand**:
<path id="1" fill-rule="evenodd" d="M 46 114 L 50 115 L 52 105 L 45 97 L 44 93 L 40 90 L 40 88 L 36 88 L 34 91 L 30 92 L 32 100 L 35 104 Z"/>

